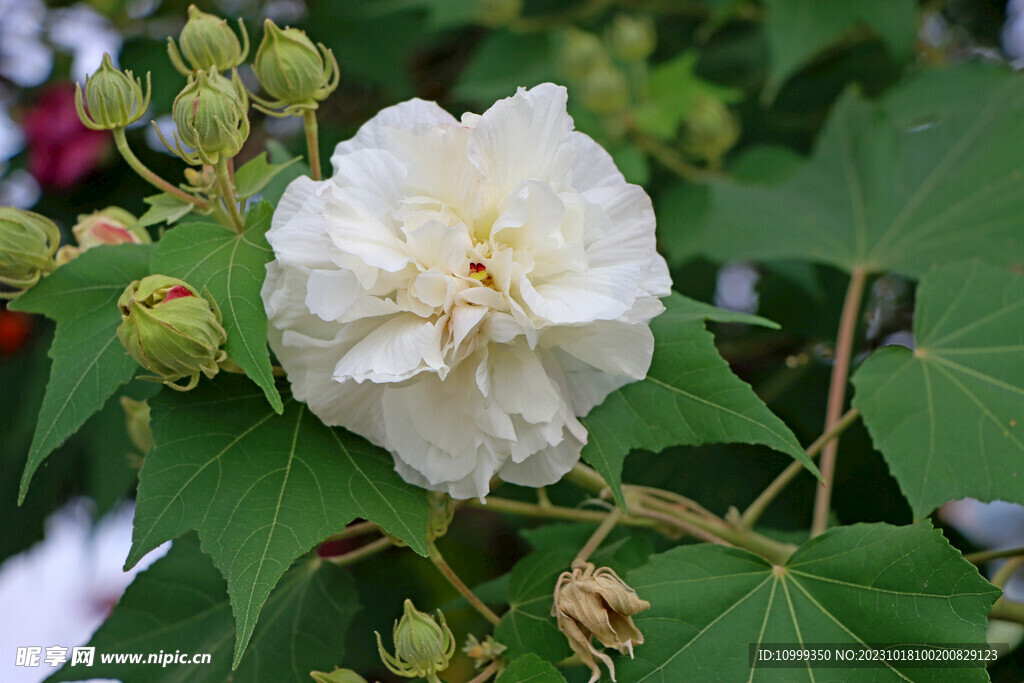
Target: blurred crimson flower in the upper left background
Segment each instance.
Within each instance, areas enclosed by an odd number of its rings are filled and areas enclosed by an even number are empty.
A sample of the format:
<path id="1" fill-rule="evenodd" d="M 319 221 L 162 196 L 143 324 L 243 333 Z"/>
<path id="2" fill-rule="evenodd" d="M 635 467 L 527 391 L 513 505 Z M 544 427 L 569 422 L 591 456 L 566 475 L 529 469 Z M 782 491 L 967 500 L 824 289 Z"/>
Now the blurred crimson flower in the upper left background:
<path id="1" fill-rule="evenodd" d="M 25 112 L 29 171 L 39 184 L 67 189 L 94 170 L 111 151 L 106 131 L 89 130 L 75 112 L 75 86 L 48 86 Z"/>

